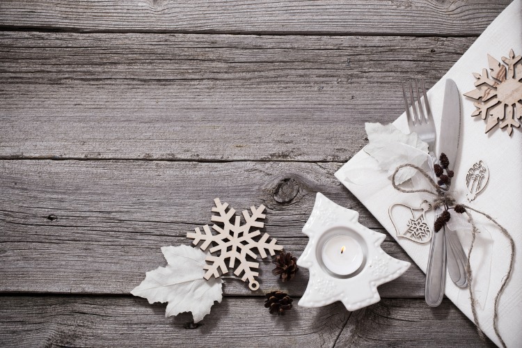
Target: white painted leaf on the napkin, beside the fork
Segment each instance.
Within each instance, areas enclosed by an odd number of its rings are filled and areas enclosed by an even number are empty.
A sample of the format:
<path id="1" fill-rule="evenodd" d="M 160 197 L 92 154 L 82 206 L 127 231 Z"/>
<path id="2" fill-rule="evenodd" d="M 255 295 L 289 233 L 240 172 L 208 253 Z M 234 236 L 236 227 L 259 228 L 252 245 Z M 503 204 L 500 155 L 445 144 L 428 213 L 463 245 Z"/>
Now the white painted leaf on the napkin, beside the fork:
<path id="1" fill-rule="evenodd" d="M 415 132 L 402 133 L 392 125 L 365 123 L 366 134 L 370 143 L 364 151 L 377 160 L 379 168 L 393 175 L 401 164 L 421 166 L 427 160 L 428 144 L 420 140 Z M 416 171 L 406 168 L 397 173 L 396 182 L 401 184 L 410 179 Z"/>

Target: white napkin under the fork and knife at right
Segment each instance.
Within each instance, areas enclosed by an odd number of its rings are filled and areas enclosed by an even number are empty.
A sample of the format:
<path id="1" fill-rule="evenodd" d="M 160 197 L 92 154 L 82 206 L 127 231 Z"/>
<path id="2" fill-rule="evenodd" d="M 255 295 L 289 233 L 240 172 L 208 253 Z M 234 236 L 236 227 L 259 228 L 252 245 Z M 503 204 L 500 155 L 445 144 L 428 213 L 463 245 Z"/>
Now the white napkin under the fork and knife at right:
<path id="1" fill-rule="evenodd" d="M 487 55 L 497 61 L 508 56 L 510 49 L 516 55 L 522 54 L 522 0 L 513 1 L 471 45 L 468 51 L 438 81 L 428 93 L 432 107 L 437 134 L 440 129 L 443 107 L 445 79 L 453 79 L 461 94 L 473 90 L 475 78 L 473 72 L 482 74 L 483 68 L 489 68 Z M 486 212 L 504 226 L 515 240 L 515 264 L 512 278 L 500 296 L 498 328 L 508 347 L 520 347 L 522 342 L 522 127 L 514 128 L 512 136 L 498 126 L 484 134 L 486 122 L 480 116 L 471 117 L 475 111 L 473 100 L 461 96 L 462 127 L 461 150 L 452 180 L 452 190 L 457 202 L 464 203 Z M 404 113 L 394 125 L 409 133 Z M 438 153 L 438 151 L 436 152 Z M 482 159 L 489 167 L 489 182 L 477 198 L 468 203 L 466 200 L 466 173 L 478 160 Z M 400 193 L 393 189 L 386 172 L 379 170 L 377 161 L 363 150 L 358 152 L 347 164 L 335 173 L 335 177 L 345 184 L 361 200 L 368 210 L 379 220 L 386 230 L 404 248 L 416 264 L 426 271 L 429 243 L 417 244 L 409 239 L 397 238 L 388 208 L 394 203 L 418 205 L 431 196 L 418 193 Z M 354 179 L 355 178 L 355 179 Z M 493 331 L 493 301 L 500 288 L 500 283 L 507 273 L 509 265 L 509 242 L 500 234 L 500 230 L 486 219 L 473 214 L 482 231 L 477 235 L 477 244 L 473 248 L 471 266 L 473 269 L 473 290 L 478 299 L 477 315 L 484 330 L 493 342 L 500 341 Z M 434 213 L 427 213 L 430 224 Z M 459 230 L 466 254 L 470 245 L 470 229 Z M 518 253 L 518 255 L 517 255 Z M 460 289 L 447 274 L 445 294 L 457 307 L 473 320 L 467 289 Z M 458 330 L 458 328 L 455 328 Z"/>

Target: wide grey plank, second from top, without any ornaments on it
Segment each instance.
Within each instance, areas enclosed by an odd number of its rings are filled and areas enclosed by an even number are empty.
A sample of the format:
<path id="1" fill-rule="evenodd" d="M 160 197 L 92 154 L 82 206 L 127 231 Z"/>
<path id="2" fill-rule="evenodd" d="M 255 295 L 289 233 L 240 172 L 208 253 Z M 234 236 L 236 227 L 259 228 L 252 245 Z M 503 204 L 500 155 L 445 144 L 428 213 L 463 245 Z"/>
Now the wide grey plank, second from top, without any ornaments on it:
<path id="1" fill-rule="evenodd" d="M 0 158 L 346 161 L 473 40 L 0 32 Z"/>

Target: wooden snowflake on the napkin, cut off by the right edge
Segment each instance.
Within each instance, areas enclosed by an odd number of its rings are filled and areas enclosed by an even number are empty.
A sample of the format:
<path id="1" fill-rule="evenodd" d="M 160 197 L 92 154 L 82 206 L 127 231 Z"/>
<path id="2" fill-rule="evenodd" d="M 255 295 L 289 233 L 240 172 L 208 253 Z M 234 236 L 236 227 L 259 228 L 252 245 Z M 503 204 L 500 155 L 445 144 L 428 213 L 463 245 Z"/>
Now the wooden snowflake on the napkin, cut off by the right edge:
<path id="1" fill-rule="evenodd" d="M 486 133 L 498 125 L 507 127 L 511 136 L 513 127 L 520 127 L 516 120 L 522 118 L 522 56 L 515 56 L 510 50 L 509 58 L 502 57 L 502 61 L 505 65 L 488 54 L 489 77 L 487 69 L 482 69 L 482 74 L 473 73 L 477 79 L 475 89 L 464 95 L 477 100 L 473 103 L 477 109 L 471 116 L 480 115 L 487 121 Z"/>

